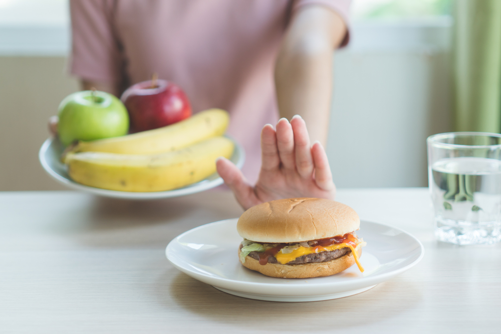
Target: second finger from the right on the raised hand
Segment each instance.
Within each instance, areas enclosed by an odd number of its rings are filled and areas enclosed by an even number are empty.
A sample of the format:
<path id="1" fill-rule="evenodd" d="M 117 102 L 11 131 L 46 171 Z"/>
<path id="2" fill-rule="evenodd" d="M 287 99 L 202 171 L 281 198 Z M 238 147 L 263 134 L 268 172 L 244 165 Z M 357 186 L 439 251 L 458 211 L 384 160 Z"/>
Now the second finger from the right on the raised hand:
<path id="1" fill-rule="evenodd" d="M 296 169 L 303 178 L 311 178 L 313 174 L 313 158 L 306 123 L 301 116 L 296 115 L 291 120 L 291 126 L 294 133 Z"/>

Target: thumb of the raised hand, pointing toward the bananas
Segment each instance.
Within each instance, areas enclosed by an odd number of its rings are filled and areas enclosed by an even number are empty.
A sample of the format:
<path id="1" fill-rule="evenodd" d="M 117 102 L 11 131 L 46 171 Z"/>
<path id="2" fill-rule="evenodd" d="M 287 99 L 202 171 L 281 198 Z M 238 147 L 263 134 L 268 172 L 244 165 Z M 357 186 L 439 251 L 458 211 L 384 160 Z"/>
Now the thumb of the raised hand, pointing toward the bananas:
<path id="1" fill-rule="evenodd" d="M 233 191 L 236 200 L 244 210 L 260 203 L 254 188 L 250 186 L 242 172 L 231 161 L 223 157 L 217 158 L 216 170 L 228 188 Z"/>

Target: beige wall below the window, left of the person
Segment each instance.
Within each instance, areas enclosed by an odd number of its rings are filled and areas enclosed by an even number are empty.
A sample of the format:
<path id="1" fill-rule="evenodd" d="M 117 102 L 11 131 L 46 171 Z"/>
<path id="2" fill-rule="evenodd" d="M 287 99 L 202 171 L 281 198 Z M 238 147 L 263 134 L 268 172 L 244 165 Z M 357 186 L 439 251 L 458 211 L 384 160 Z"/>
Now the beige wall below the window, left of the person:
<path id="1" fill-rule="evenodd" d="M 47 119 L 78 90 L 65 67 L 64 57 L 0 57 L 0 191 L 66 189 L 38 161 Z"/>

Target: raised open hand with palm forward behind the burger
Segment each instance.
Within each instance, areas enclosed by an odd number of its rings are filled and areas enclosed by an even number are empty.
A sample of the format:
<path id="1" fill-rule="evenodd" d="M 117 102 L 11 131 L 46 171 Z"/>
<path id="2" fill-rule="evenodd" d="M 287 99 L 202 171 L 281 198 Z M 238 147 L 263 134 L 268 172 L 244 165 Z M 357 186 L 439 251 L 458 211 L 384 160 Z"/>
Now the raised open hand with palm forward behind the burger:
<path id="1" fill-rule="evenodd" d="M 267 124 L 261 132 L 263 164 L 252 186 L 229 160 L 216 161 L 217 172 L 244 209 L 280 198 L 318 197 L 334 199 L 336 186 L 320 142 L 310 146 L 305 121 L 282 118 L 277 130 Z"/>

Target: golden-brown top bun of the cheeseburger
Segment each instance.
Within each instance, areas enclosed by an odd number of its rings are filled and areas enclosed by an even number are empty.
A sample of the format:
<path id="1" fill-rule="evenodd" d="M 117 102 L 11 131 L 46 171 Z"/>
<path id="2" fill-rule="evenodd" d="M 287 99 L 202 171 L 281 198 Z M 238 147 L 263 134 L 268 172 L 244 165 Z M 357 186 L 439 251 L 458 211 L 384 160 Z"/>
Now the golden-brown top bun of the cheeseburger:
<path id="1" fill-rule="evenodd" d="M 257 242 L 301 242 L 358 230 L 360 218 L 349 206 L 323 198 L 287 198 L 245 211 L 236 225 L 241 237 Z"/>

